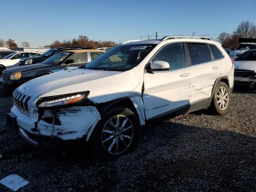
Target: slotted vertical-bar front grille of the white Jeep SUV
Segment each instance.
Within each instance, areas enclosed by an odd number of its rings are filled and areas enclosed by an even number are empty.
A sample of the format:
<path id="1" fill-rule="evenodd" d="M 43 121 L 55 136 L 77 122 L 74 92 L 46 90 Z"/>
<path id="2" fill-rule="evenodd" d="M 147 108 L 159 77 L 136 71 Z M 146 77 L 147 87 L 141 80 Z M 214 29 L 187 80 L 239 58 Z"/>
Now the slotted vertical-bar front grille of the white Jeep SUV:
<path id="1" fill-rule="evenodd" d="M 14 105 L 26 113 L 29 113 L 28 101 L 30 98 L 30 96 L 24 94 L 18 88 L 13 92 Z"/>

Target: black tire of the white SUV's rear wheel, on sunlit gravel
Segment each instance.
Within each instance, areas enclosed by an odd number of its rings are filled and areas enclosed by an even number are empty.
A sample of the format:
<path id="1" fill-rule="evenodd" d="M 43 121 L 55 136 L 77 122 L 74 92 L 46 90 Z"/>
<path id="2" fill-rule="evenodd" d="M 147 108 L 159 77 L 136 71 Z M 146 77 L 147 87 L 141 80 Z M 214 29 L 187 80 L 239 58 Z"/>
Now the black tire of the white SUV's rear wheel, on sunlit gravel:
<path id="1" fill-rule="evenodd" d="M 223 88 L 223 90 L 225 88 L 224 96 L 226 94 L 228 94 L 226 97 L 222 97 L 222 96 L 219 95 L 221 93 L 221 88 Z M 222 97 L 223 99 L 220 98 L 220 97 Z M 228 97 L 228 103 L 226 103 L 227 97 Z M 222 102 L 222 104 L 221 104 L 221 102 Z M 214 91 L 214 95 L 213 95 L 213 98 L 212 98 L 212 103 L 211 103 L 210 109 L 216 115 L 225 115 L 225 114 L 228 113 L 228 110 L 230 109 L 230 102 L 231 102 L 231 94 L 230 94 L 230 89 L 228 88 L 228 85 L 225 82 L 222 82 L 222 81 L 218 82 L 218 84 L 216 86 L 216 89 Z"/>

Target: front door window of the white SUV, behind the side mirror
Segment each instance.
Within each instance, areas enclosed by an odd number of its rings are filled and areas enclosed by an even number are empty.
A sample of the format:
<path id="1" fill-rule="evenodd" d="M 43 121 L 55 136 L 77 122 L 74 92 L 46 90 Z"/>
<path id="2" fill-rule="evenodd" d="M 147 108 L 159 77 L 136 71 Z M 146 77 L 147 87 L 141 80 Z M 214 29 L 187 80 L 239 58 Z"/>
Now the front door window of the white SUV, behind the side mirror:
<path id="1" fill-rule="evenodd" d="M 179 69 L 185 67 L 185 54 L 182 44 L 168 45 L 164 47 L 154 58 L 154 61 L 165 61 L 170 65 L 169 70 Z"/>

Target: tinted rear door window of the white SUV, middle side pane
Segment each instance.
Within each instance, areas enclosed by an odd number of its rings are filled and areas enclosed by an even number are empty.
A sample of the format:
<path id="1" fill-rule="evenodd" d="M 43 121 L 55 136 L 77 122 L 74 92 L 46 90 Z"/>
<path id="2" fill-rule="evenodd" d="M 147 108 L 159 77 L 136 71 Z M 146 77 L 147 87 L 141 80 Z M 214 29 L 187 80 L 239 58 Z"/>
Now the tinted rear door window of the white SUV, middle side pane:
<path id="1" fill-rule="evenodd" d="M 191 65 L 197 65 L 212 60 L 210 50 L 206 44 L 187 44 Z"/>

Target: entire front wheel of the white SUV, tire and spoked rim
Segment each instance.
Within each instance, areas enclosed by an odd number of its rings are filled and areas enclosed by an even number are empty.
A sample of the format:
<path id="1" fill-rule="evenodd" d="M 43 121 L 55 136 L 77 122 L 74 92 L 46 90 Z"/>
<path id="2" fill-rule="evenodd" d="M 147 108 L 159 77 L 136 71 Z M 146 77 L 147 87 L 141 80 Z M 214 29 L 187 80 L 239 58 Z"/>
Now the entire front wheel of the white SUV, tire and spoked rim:
<path id="1" fill-rule="evenodd" d="M 138 118 L 125 107 L 114 107 L 102 116 L 95 127 L 92 148 L 97 156 L 110 160 L 133 150 L 139 140 Z"/>

